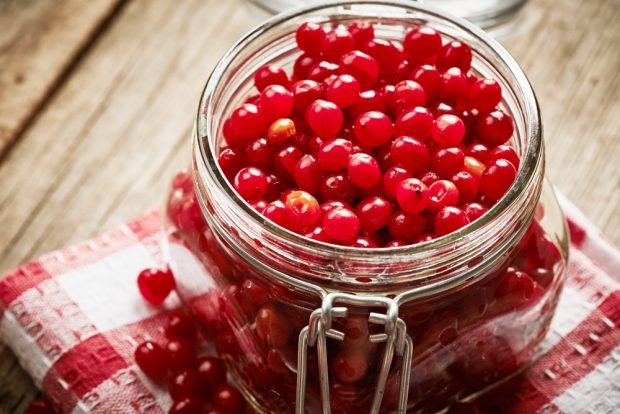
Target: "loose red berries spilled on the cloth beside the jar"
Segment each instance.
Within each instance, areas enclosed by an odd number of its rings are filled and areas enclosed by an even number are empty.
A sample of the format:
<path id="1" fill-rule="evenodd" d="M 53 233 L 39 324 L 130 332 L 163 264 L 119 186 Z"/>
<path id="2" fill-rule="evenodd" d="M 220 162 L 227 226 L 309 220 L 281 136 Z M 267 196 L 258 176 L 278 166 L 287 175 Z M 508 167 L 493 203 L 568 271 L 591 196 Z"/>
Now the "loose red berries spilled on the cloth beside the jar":
<path id="1" fill-rule="evenodd" d="M 175 286 L 169 269 L 146 269 L 137 282 L 142 297 L 155 305 L 161 304 Z M 203 338 L 191 315 L 182 310 L 171 312 L 164 333 L 165 344 L 145 341 L 136 348 L 134 358 L 149 378 L 168 381 L 174 401 L 170 414 L 245 413 L 243 396 L 226 383 L 224 363 L 213 356 L 197 356 L 196 348 Z"/>

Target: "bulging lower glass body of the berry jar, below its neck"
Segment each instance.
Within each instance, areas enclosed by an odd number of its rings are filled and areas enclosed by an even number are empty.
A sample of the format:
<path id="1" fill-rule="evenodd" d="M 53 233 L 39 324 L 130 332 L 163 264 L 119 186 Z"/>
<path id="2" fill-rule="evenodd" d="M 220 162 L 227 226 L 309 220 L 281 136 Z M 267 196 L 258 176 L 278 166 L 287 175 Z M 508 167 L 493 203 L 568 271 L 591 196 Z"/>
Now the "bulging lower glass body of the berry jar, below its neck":
<path id="1" fill-rule="evenodd" d="M 299 333 L 321 298 L 248 267 L 197 207 L 191 188 L 172 189 L 166 220 L 178 291 L 254 406 L 293 413 Z M 400 306 L 413 341 L 408 412 L 442 409 L 518 371 L 532 356 L 549 327 L 566 267 L 563 216 L 548 185 L 537 211 L 514 248 L 474 283 Z M 361 413 L 370 406 L 383 352 L 369 340 L 379 333 L 368 322 L 372 310 L 351 308 L 335 322 L 344 341 L 328 339 L 334 413 Z M 402 360 L 393 365 L 382 404 L 386 413 L 396 408 Z M 321 412 L 314 350 L 308 372 L 306 412 Z"/>

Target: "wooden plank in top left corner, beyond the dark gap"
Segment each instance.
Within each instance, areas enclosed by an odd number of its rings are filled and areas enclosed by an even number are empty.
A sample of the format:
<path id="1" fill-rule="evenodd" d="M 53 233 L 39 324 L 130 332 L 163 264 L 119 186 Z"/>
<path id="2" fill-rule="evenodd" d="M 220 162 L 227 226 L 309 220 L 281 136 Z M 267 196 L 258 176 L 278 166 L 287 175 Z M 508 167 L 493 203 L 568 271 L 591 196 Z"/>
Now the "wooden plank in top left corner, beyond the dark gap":
<path id="1" fill-rule="evenodd" d="M 121 2 L 0 1 L 0 157 Z"/>

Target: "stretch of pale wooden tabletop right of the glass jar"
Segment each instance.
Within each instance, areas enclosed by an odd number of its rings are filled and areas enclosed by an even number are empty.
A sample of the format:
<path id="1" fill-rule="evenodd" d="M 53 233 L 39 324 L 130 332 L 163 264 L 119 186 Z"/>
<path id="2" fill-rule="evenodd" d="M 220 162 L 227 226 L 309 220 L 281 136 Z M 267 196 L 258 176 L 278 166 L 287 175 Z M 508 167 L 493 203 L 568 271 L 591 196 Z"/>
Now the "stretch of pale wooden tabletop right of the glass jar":
<path id="1" fill-rule="evenodd" d="M 531 1 L 505 41 L 540 102 L 553 184 L 620 246 L 620 2 Z"/>

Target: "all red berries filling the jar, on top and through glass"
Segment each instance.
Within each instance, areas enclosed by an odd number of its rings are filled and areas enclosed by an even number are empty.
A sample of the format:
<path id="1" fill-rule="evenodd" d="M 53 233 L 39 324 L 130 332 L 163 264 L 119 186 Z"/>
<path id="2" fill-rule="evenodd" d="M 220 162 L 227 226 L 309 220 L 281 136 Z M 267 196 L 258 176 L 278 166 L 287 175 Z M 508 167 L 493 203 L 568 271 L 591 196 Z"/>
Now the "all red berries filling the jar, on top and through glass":
<path id="1" fill-rule="evenodd" d="M 542 171 L 494 238 L 466 228 L 490 220 L 527 161 L 504 83 L 472 66 L 475 48 L 464 40 L 394 24 L 397 37 L 382 37 L 386 23 L 376 19 L 300 22 L 288 34 L 294 58 L 246 73 L 252 92 L 218 112 L 215 169 L 195 164 L 174 179 L 167 220 L 177 289 L 259 412 L 295 412 L 300 332 L 321 307 L 282 274 L 393 299 L 472 272 L 399 306 L 413 343 L 407 412 L 441 410 L 516 372 L 553 315 L 565 254 L 549 230 L 559 213 Z M 202 174 L 221 174 L 228 189 L 212 192 Z M 220 206 L 224 198 L 235 204 Z M 234 215 L 244 208 L 253 210 L 247 223 Z M 435 256 L 424 249 L 459 231 Z M 197 264 L 179 264 L 180 249 Z M 399 285 L 407 272 L 416 278 Z M 386 348 L 371 340 L 384 332 L 370 321 L 377 311 L 352 306 L 334 319 L 343 335 L 326 345 L 333 413 L 373 403 Z M 322 410 L 318 359 L 309 348 L 307 413 Z M 397 355 L 389 369 L 381 413 L 398 407 L 403 362 Z"/>

